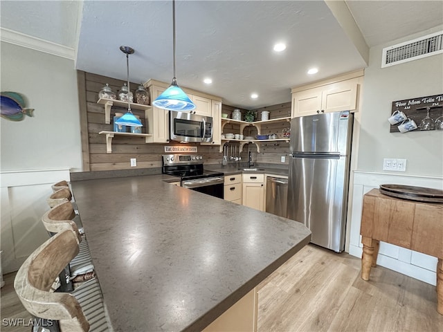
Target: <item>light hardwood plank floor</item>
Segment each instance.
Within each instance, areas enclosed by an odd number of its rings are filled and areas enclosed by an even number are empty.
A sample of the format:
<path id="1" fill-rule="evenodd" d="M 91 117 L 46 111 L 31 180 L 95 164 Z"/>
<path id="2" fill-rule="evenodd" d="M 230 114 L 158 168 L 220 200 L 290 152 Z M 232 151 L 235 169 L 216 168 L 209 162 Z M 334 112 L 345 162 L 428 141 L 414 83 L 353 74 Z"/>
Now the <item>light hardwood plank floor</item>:
<path id="1" fill-rule="evenodd" d="M 259 288 L 258 331 L 443 331 L 435 286 L 387 268 L 360 279 L 361 261 L 309 244 L 264 280 Z M 1 288 L 1 331 L 10 317 L 29 320 L 15 295 L 15 273 Z"/>

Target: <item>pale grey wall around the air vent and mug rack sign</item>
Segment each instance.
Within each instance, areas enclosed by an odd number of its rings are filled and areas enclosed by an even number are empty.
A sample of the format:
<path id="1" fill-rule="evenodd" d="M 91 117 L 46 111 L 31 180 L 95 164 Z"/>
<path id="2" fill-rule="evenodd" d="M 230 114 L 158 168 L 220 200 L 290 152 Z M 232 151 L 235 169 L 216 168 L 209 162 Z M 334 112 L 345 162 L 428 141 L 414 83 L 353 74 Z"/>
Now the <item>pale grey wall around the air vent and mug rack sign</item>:
<path id="1" fill-rule="evenodd" d="M 442 29 L 424 31 L 370 49 L 364 78 L 359 170 L 383 172 L 383 158 L 404 158 L 407 159 L 406 174 L 443 175 L 443 131 L 390 133 L 387 120 L 395 100 L 443 93 L 443 54 L 381 68 L 383 47 Z"/>

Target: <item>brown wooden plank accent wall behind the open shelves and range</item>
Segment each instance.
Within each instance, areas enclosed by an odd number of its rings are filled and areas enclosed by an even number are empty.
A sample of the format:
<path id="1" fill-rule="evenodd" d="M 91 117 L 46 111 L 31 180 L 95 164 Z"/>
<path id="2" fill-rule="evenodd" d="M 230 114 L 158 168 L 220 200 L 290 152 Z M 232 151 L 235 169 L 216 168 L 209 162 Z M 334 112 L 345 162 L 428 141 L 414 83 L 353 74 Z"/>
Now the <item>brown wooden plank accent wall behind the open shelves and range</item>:
<path id="1" fill-rule="evenodd" d="M 112 140 L 112 153 L 106 153 L 105 135 L 99 135 L 98 132 L 112 131 L 112 118 L 117 112 L 125 113 L 127 109 L 112 107 L 111 124 L 105 124 L 105 108 L 103 105 L 97 104 L 98 92 L 106 83 L 111 89 L 117 93 L 123 83 L 123 80 L 85 73 L 78 71 L 78 95 L 80 103 L 80 128 L 82 131 L 82 156 L 83 171 L 101 171 L 112 169 L 131 169 L 131 168 L 154 168 L 161 167 L 161 155 L 164 154 L 165 145 L 179 145 L 178 142 L 169 144 L 146 144 L 144 138 L 116 136 Z M 131 83 L 131 91 L 134 91 L 138 84 Z M 222 104 L 222 113 L 232 113 L 236 107 Z M 242 110 L 242 109 L 241 109 Z M 242 110 L 244 111 L 244 110 Z M 271 107 L 257 109 L 260 119 L 260 111 L 269 111 L 270 118 L 281 118 L 289 116 L 291 111 L 291 102 L 278 104 Z M 135 115 L 140 116 L 143 126 L 145 126 L 144 112 L 133 110 Z M 282 133 L 284 127 L 289 127 L 289 122 L 279 122 L 278 124 L 269 124 L 262 127 L 263 133 Z M 255 130 L 246 128 L 244 135 L 252 135 Z M 239 133 L 238 126 L 226 126 L 226 132 Z M 246 133 L 246 131 L 248 131 Z M 145 127 L 142 128 L 145 133 Z M 256 132 L 256 130 L 255 130 Z M 190 143 L 188 145 L 197 145 L 198 153 L 204 156 L 206 164 L 221 164 L 223 154 L 219 152 L 219 145 L 199 145 L 198 143 Z M 280 156 L 287 154 L 289 144 L 286 142 L 275 142 L 273 144 L 264 144 L 260 154 L 257 154 L 255 145 L 245 145 L 242 154 L 242 160 L 246 161 L 248 148 L 255 154 L 253 160 L 259 163 L 278 163 L 280 164 Z M 137 159 L 137 166 L 130 166 L 130 159 Z"/>

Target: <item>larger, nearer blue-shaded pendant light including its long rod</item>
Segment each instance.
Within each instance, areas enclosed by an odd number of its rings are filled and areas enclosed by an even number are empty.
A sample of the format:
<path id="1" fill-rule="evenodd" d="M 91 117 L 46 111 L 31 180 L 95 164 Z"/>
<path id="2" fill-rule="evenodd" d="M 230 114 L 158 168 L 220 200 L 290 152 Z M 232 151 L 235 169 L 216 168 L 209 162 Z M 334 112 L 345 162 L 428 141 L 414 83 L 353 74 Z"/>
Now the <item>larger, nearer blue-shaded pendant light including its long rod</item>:
<path id="1" fill-rule="evenodd" d="M 167 109 L 168 111 L 192 111 L 192 109 L 195 109 L 195 104 L 180 89 L 175 77 L 175 0 L 172 0 L 172 50 L 174 53 L 174 77 L 172 78 L 172 83 L 152 104 L 155 107 L 159 107 L 159 109 Z"/>

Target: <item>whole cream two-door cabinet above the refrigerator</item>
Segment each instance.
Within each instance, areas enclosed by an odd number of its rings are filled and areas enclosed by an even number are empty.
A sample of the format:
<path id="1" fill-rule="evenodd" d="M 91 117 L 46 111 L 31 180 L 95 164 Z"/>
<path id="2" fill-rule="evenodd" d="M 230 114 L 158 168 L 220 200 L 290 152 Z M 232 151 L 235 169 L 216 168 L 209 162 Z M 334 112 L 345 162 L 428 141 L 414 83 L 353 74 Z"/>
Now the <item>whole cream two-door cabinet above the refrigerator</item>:
<path id="1" fill-rule="evenodd" d="M 337 111 L 357 111 L 359 77 L 362 76 L 363 71 L 358 71 L 317 84 L 293 88 L 291 90 L 291 117 Z"/>

